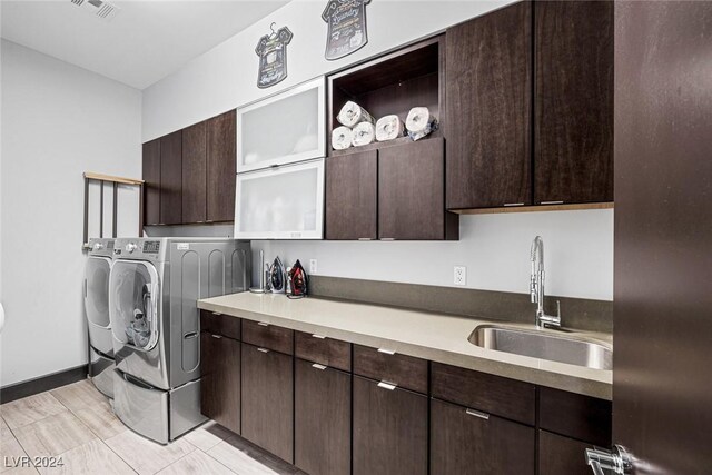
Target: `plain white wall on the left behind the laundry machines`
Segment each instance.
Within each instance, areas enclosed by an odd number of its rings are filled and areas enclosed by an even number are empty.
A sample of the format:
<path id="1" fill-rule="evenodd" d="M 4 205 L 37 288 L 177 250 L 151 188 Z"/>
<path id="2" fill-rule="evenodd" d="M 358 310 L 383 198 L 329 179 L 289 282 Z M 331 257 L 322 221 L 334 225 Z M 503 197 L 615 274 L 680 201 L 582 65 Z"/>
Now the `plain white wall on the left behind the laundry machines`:
<path id="1" fill-rule="evenodd" d="M 140 177 L 141 92 L 6 40 L 1 59 L 6 386 L 87 360 L 81 174 Z"/>

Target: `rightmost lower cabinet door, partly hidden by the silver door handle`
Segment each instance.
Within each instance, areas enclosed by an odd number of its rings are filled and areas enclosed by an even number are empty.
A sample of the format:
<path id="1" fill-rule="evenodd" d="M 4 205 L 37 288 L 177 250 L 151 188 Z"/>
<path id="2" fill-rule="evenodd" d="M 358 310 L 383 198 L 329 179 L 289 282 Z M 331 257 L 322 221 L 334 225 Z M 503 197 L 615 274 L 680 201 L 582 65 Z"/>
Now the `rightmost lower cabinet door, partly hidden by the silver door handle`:
<path id="1" fill-rule="evenodd" d="M 538 473 L 542 475 L 590 475 L 584 453 L 593 444 L 564 437 L 546 431 L 538 432 Z"/>

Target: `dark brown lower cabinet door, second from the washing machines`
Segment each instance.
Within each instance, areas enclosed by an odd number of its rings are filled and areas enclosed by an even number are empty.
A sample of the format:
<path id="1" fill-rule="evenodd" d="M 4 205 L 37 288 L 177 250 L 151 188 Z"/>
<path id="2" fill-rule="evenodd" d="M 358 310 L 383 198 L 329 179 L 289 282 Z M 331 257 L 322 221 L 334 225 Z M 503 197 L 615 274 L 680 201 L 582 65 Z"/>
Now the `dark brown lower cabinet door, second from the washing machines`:
<path id="1" fill-rule="evenodd" d="M 243 437 L 294 462 L 293 357 L 243 343 Z"/>

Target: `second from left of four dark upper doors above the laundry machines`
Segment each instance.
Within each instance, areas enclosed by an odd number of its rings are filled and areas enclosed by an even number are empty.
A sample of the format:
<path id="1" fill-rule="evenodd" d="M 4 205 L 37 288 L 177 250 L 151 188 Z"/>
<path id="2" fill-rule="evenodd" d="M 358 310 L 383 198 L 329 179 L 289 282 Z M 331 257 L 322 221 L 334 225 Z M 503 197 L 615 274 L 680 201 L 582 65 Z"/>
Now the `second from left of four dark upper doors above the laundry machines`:
<path id="1" fill-rule="evenodd" d="M 182 130 L 160 138 L 160 224 L 182 222 Z"/>

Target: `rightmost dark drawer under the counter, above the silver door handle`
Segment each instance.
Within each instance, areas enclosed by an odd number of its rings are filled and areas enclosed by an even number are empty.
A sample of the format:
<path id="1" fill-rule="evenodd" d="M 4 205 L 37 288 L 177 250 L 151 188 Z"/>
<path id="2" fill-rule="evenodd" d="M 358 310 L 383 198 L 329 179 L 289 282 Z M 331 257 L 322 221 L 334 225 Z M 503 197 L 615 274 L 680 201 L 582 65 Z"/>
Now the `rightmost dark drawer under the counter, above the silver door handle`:
<path id="1" fill-rule="evenodd" d="M 611 445 L 613 416 L 610 400 L 540 387 L 538 417 L 543 429 L 595 445 Z"/>

